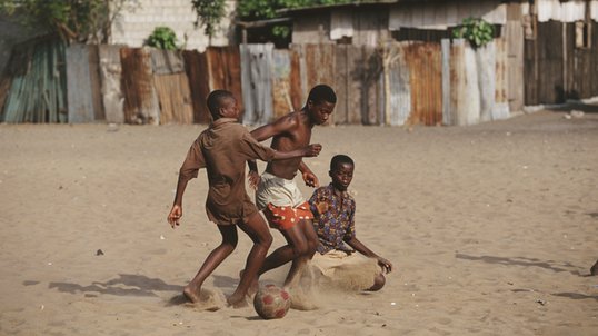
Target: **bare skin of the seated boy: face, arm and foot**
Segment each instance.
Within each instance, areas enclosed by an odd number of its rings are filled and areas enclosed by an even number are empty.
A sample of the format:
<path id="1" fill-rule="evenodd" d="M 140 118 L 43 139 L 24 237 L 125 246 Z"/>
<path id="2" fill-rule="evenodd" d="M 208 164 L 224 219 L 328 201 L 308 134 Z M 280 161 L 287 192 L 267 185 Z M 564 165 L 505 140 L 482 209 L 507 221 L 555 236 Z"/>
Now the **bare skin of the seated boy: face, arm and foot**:
<path id="1" fill-rule="evenodd" d="M 340 162 L 332 170 L 328 171 L 328 175 L 332 179 L 332 187 L 337 196 L 343 197 L 346 195 L 347 188 L 353 179 L 353 170 L 355 167 L 350 162 Z M 352 247 L 358 253 L 365 255 L 366 257 L 375 258 L 376 260 L 378 260 L 378 265 L 382 268 L 382 271 L 376 276 L 373 286 L 370 287 L 368 290 L 381 289 L 386 284 L 383 273 L 390 273 L 392 270 L 392 264 L 387 259 L 378 256 L 363 243 L 357 239 L 357 237 L 345 239 L 345 243 L 347 243 L 350 247 Z"/>

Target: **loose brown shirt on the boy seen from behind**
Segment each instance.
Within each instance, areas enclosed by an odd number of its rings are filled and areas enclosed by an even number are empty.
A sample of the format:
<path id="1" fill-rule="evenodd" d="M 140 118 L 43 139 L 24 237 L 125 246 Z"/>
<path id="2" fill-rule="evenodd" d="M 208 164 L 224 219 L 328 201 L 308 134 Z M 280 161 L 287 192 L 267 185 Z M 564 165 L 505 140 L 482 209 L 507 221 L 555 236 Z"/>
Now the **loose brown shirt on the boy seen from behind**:
<path id="1" fill-rule="evenodd" d="M 218 225 L 233 225 L 257 213 L 245 190 L 245 166 L 249 159 L 270 161 L 275 150 L 260 145 L 236 119 L 221 118 L 191 145 L 179 176 L 190 180 L 200 168 L 208 170 L 206 213 Z"/>

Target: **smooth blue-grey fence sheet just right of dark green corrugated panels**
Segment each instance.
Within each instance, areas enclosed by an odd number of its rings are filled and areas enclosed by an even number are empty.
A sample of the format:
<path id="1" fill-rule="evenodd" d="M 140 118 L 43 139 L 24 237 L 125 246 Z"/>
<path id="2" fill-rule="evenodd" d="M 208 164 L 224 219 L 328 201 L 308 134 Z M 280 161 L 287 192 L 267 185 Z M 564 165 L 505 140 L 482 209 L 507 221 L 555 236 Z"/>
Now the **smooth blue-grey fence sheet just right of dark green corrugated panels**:
<path id="1" fill-rule="evenodd" d="M 91 122 L 96 119 L 89 75 L 89 50 L 87 45 L 71 45 L 67 57 L 67 100 L 69 122 Z"/>

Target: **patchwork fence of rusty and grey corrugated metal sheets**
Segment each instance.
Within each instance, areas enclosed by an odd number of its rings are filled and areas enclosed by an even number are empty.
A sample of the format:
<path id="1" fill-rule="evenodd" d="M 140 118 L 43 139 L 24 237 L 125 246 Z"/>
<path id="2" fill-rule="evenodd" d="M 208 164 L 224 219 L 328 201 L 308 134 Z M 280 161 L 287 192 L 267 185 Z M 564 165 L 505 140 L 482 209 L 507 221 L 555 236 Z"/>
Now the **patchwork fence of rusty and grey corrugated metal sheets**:
<path id="1" fill-rule="evenodd" d="M 0 81 L 1 120 L 206 123 L 205 98 L 227 89 L 239 98 L 243 122 L 262 125 L 300 109 L 312 86 L 328 83 L 338 96 L 332 123 L 472 125 L 509 116 L 506 45 L 497 38 L 472 49 L 464 40 L 443 39 L 381 49 L 242 45 L 198 52 L 39 40 L 13 51 L 11 71 Z M 577 68 L 564 72 L 558 57 L 537 50 L 548 45 L 540 38 L 526 45 L 526 55 L 534 56 L 527 58 L 526 101 L 557 100 L 552 81 L 542 80 L 552 75 L 560 81 L 568 76 L 570 92 L 580 98 L 597 95 L 598 81 L 580 77 L 596 72 L 596 48 L 572 50 L 568 65 Z"/>

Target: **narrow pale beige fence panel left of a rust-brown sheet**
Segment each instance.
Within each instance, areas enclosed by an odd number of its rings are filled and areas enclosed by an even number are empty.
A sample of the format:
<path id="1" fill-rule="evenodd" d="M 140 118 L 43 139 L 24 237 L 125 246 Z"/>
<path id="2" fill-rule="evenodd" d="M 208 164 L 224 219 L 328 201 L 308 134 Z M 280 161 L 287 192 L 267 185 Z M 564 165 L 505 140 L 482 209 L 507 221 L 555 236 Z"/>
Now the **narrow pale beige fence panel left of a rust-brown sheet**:
<path id="1" fill-rule="evenodd" d="M 120 63 L 121 46 L 99 46 L 99 72 L 101 97 L 107 122 L 123 123 L 124 98 L 121 90 L 122 66 Z"/>

